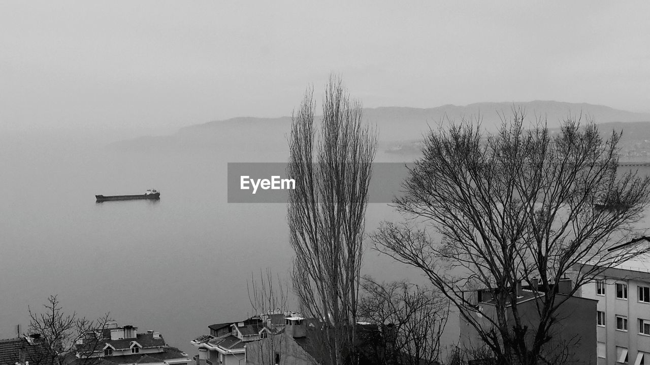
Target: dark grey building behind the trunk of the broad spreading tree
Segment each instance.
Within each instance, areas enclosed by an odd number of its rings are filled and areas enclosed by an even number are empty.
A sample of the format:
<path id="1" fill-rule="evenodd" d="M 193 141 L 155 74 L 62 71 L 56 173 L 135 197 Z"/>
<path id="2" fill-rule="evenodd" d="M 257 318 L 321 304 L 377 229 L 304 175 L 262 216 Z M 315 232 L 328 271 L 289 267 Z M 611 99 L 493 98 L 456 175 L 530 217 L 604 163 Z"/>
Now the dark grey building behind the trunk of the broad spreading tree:
<path id="1" fill-rule="evenodd" d="M 573 283 L 571 279 L 562 279 L 553 286 L 556 295 L 565 296 Z M 510 290 L 517 294 L 517 311 L 522 325 L 537 328 L 539 324 L 538 304 L 544 293 L 536 283 L 528 286 L 517 284 Z M 468 293 L 469 300 L 476 303 L 478 312 L 471 315 L 484 331 L 492 327 L 489 319 L 496 317 L 496 308 L 492 300 L 491 290 L 475 290 Z M 595 364 L 596 362 L 596 329 L 593 318 L 596 316 L 596 301 L 584 297 L 565 297 L 566 301 L 556 312 L 556 322 L 551 327 L 551 340 L 545 344 L 547 359 L 565 357 L 564 364 Z M 506 308 L 506 318 L 512 323 L 512 305 Z M 478 331 L 465 318 L 460 318 L 460 348 L 477 351 L 485 349 Z M 470 359 L 473 360 L 473 359 Z M 480 360 L 480 359 L 474 359 Z"/>

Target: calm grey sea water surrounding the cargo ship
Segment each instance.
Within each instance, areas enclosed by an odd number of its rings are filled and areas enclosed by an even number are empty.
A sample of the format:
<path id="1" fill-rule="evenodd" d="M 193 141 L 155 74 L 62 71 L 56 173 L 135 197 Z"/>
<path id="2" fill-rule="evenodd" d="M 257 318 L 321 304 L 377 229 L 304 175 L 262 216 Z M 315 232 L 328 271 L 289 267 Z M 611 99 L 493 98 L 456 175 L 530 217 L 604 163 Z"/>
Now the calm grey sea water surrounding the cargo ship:
<path id="1" fill-rule="evenodd" d="M 188 353 L 207 325 L 251 314 L 247 280 L 285 274 L 292 251 L 283 204 L 228 204 L 227 162 L 286 160 L 237 146 L 135 153 L 68 144 L 0 144 L 0 338 L 58 294 L 64 309 L 161 331 Z M 96 203 L 95 194 L 161 191 L 160 201 Z M 396 218 L 370 206 L 369 230 Z M 367 251 L 364 272 L 413 276 Z M 417 279 L 417 278 L 416 278 Z"/>

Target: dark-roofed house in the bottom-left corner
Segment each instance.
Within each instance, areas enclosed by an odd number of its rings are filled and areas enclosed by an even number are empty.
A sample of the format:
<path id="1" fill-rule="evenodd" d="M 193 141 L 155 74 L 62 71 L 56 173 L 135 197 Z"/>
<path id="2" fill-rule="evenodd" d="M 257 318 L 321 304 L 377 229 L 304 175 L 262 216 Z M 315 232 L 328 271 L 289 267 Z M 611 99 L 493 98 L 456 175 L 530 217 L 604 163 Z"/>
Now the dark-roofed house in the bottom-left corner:
<path id="1" fill-rule="evenodd" d="M 0 340 L 0 365 L 52 365 L 56 358 L 38 334 Z"/>

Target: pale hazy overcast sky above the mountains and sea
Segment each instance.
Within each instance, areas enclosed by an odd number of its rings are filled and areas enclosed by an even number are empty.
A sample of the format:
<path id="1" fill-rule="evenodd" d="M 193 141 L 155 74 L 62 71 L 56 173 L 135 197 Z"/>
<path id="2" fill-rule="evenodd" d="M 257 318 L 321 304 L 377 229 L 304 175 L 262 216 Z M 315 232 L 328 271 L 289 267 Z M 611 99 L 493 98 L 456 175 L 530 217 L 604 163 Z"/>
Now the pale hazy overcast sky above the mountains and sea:
<path id="1" fill-rule="evenodd" d="M 0 132 L 285 116 L 341 73 L 365 107 L 650 111 L 650 1 L 2 1 Z"/>

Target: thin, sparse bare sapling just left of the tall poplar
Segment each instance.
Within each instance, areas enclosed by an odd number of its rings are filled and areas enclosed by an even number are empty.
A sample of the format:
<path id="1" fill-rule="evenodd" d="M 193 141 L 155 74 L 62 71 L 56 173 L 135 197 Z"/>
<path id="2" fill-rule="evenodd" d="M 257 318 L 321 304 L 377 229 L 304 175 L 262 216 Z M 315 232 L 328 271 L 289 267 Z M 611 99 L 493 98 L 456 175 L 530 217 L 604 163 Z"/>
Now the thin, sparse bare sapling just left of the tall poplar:
<path id="1" fill-rule="evenodd" d="M 253 316 L 260 316 L 268 330 L 266 338 L 261 338 L 256 344 L 247 347 L 246 357 L 249 362 L 259 365 L 277 365 L 276 353 L 283 352 L 282 325 L 273 323 L 274 314 L 284 314 L 288 311 L 289 284 L 279 275 L 273 275 L 270 269 L 259 272 L 259 279 L 251 274 L 246 284 L 248 299 L 253 308 Z M 282 359 L 282 357 L 280 357 Z M 282 361 L 280 361 L 282 362 Z"/>

